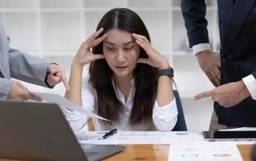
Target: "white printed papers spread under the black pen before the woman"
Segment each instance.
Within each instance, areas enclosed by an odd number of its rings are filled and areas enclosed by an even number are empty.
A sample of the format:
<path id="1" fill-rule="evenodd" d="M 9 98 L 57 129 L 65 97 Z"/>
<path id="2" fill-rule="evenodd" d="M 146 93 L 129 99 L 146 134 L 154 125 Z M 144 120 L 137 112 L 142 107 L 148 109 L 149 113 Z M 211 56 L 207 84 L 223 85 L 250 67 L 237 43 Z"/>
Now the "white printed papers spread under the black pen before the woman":
<path id="1" fill-rule="evenodd" d="M 106 131 L 86 131 L 77 134 L 78 142 L 84 144 L 170 144 L 174 141 L 203 140 L 197 132 L 120 131 L 107 139 L 101 139 Z"/>

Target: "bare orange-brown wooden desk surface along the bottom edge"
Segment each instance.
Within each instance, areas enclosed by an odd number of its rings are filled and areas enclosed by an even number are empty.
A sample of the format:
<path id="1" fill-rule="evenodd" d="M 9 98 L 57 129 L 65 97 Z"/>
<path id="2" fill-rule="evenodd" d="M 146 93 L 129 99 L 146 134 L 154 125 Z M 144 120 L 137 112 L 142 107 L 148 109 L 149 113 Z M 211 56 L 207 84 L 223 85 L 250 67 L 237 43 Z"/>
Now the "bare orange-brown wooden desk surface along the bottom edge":
<path id="1" fill-rule="evenodd" d="M 250 151 L 253 145 L 237 146 L 241 157 L 245 161 L 250 161 Z M 113 155 L 105 161 L 109 160 L 167 160 L 169 145 L 127 145 L 123 152 Z M 13 159 L 0 159 L 0 161 L 10 161 Z"/>

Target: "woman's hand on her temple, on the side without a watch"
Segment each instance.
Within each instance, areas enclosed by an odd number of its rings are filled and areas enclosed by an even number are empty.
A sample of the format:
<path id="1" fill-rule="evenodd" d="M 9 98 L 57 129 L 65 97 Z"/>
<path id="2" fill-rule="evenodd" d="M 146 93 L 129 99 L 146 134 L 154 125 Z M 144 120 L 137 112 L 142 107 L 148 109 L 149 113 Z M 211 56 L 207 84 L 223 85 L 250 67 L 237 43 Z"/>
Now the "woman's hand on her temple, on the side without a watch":
<path id="1" fill-rule="evenodd" d="M 77 55 L 73 59 L 73 63 L 83 66 L 85 64 L 89 64 L 94 60 L 104 59 L 103 54 L 94 54 L 90 52 L 90 49 L 92 47 L 97 46 L 99 43 L 107 38 L 107 34 L 104 34 L 103 36 L 96 39 L 102 32 L 103 28 L 100 28 L 99 31 L 94 31 L 94 33 L 81 44 L 78 49 Z"/>

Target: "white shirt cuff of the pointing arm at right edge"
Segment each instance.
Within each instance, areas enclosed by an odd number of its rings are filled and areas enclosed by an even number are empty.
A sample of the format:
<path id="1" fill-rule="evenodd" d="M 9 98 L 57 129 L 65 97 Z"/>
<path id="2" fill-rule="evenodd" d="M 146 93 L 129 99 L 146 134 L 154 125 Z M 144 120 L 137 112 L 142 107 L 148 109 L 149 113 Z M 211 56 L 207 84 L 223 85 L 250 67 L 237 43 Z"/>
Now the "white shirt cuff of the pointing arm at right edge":
<path id="1" fill-rule="evenodd" d="M 256 79 L 253 75 L 246 76 L 242 79 L 244 81 L 246 88 L 250 92 L 250 96 L 256 100 Z"/>

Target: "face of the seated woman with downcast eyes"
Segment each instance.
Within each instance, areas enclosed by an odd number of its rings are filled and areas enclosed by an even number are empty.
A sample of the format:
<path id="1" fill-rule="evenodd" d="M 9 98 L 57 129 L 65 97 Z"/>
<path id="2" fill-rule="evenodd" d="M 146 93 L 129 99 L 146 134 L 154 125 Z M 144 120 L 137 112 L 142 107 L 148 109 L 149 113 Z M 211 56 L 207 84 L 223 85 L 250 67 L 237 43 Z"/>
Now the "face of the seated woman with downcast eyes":
<path id="1" fill-rule="evenodd" d="M 103 55 L 107 64 L 117 77 L 132 77 L 136 61 L 140 56 L 140 47 L 132 33 L 119 29 L 107 31 L 103 41 Z"/>

